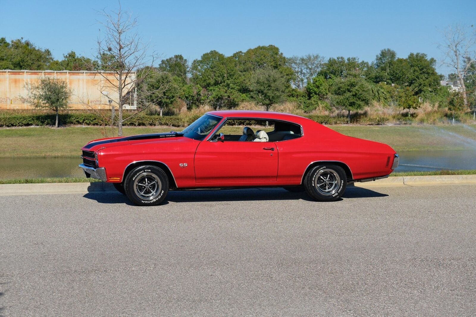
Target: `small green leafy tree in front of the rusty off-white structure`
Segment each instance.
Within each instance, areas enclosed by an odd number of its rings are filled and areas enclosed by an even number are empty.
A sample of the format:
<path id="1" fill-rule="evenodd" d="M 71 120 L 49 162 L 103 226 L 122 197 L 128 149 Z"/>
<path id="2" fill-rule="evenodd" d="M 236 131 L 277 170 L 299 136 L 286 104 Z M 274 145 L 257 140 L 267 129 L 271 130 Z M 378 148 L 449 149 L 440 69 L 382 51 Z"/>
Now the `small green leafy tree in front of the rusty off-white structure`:
<path id="1" fill-rule="evenodd" d="M 68 100 L 71 90 L 64 80 L 42 77 L 38 83 L 25 84 L 27 96 L 20 96 L 23 102 L 27 102 L 37 109 L 50 109 L 56 113 L 56 125 L 58 127 L 58 113 L 61 109 L 68 108 Z"/>

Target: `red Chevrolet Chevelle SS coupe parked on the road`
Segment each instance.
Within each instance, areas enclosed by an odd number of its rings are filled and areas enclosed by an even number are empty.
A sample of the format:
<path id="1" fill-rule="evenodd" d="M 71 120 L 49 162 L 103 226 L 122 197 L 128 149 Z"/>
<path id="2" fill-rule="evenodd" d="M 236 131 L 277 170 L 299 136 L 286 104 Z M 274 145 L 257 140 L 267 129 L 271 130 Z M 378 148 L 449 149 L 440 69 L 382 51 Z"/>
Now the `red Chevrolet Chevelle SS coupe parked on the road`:
<path id="1" fill-rule="evenodd" d="M 349 183 L 388 177 L 399 159 L 386 144 L 304 117 L 233 110 L 208 112 L 182 132 L 99 139 L 81 150 L 86 177 L 142 206 L 159 205 L 169 190 L 237 187 L 283 187 L 331 202 Z"/>

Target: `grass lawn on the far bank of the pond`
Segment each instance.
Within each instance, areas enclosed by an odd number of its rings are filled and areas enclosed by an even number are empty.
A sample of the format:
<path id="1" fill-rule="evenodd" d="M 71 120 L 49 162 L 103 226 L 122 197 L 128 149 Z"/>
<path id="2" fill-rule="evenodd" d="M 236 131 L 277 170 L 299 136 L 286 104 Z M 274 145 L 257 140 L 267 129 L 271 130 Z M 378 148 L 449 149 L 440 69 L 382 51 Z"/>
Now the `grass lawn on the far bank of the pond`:
<path id="1" fill-rule="evenodd" d="M 397 152 L 476 148 L 476 125 L 331 125 L 346 135 L 382 142 Z M 241 127 L 226 133 L 241 133 Z M 181 131 L 172 127 L 124 127 L 124 135 Z M 0 129 L 0 158 L 77 157 L 80 148 L 102 138 L 99 127 L 25 127 Z"/>

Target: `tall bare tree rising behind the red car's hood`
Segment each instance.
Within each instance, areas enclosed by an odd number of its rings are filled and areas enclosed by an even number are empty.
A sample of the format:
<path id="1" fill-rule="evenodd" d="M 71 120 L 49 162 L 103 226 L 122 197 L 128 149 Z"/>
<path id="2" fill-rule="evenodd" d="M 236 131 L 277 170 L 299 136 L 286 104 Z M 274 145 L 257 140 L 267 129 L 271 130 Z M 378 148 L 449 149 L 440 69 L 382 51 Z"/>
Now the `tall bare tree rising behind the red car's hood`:
<path id="1" fill-rule="evenodd" d="M 149 53 L 149 42 L 143 42 L 136 31 L 137 18 L 130 12 L 123 11 L 120 3 L 117 11 L 98 12 L 103 18 L 98 21 L 103 29 L 97 42 L 99 63 L 90 63 L 88 66 L 102 77 L 99 89 L 109 100 L 111 110 L 118 110 L 115 122 L 113 116 L 104 119 L 108 119 L 111 125 L 117 124 L 118 135 L 122 136 L 123 123 L 153 104 L 154 100 L 151 100 L 150 95 L 159 96 L 165 89 L 163 86 L 154 91 L 144 89 L 147 86 L 144 84 L 160 73 L 160 69 L 154 64 L 159 55 Z M 111 73 L 113 77 L 110 76 Z M 127 104 L 139 105 L 139 111 L 124 118 L 123 109 Z M 90 109 L 104 117 L 103 113 L 94 111 L 92 107 Z"/>

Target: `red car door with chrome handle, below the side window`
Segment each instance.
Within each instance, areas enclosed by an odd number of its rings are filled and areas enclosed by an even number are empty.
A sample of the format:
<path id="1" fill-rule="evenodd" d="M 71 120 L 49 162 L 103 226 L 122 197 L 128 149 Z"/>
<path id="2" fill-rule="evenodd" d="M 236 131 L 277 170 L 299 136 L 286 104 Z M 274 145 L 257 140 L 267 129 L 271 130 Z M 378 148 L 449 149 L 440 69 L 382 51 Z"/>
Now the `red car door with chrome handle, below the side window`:
<path id="1" fill-rule="evenodd" d="M 278 150 L 274 142 L 204 140 L 194 165 L 197 183 L 276 182 Z"/>

